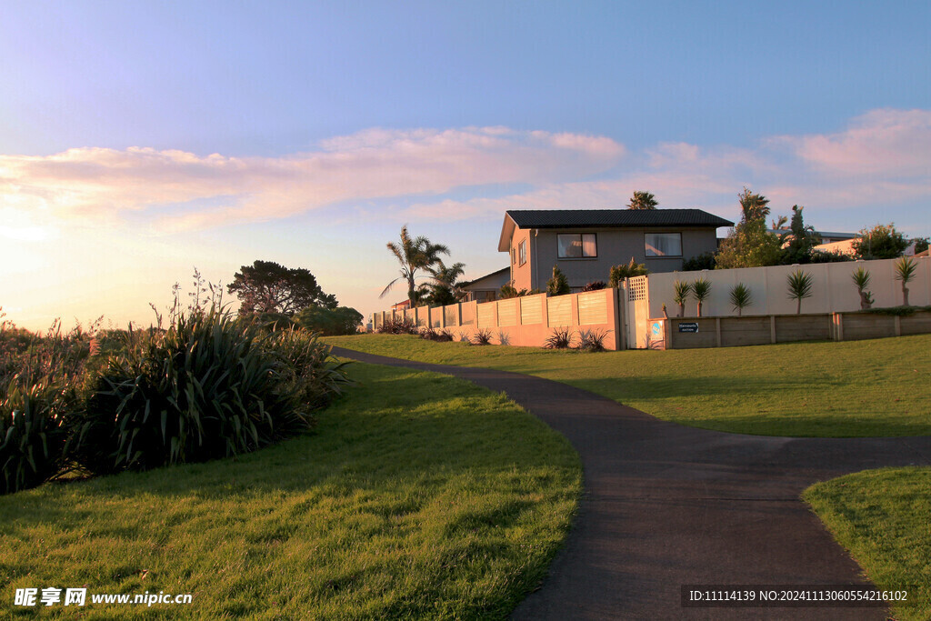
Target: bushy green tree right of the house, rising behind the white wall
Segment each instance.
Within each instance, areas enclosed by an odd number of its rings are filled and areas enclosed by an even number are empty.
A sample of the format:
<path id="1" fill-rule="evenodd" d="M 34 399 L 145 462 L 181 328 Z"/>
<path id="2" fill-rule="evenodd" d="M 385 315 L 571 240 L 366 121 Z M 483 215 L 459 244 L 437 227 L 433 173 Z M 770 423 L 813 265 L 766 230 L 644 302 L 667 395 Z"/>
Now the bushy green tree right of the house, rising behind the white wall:
<path id="1" fill-rule="evenodd" d="M 766 230 L 769 199 L 751 193 L 746 187 L 737 195 L 737 199 L 743 217 L 722 242 L 721 250 L 715 256 L 715 267 L 729 269 L 777 265 L 781 243 L 778 236 Z"/>

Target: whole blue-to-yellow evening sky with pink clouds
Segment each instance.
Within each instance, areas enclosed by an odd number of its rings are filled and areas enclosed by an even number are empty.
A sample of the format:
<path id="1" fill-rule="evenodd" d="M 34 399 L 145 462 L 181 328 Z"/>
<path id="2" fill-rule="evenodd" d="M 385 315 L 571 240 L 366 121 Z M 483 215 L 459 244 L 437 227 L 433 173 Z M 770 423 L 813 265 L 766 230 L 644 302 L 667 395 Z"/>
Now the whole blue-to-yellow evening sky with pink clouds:
<path id="1" fill-rule="evenodd" d="M 635 190 L 929 236 L 929 31 L 905 1 L 7 2 L 0 307 L 147 325 L 263 260 L 369 316 L 404 224 L 471 279 L 506 209 Z"/>

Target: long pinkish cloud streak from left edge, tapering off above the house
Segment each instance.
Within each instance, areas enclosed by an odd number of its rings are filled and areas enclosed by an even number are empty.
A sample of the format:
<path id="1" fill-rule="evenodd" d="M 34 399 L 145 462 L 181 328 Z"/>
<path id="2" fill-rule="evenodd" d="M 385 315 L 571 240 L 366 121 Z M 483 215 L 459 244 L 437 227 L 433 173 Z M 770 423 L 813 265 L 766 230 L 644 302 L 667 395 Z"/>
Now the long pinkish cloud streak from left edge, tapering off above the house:
<path id="1" fill-rule="evenodd" d="M 151 216 L 157 230 L 178 230 L 271 220 L 352 199 L 573 180 L 623 155 L 623 146 L 604 137 L 508 128 L 369 129 L 274 158 L 77 148 L 0 155 L 0 200 L 33 220 L 103 223 L 135 212 Z M 219 206 L 203 207 L 218 198 Z M 172 205 L 183 209 L 164 213 Z"/>

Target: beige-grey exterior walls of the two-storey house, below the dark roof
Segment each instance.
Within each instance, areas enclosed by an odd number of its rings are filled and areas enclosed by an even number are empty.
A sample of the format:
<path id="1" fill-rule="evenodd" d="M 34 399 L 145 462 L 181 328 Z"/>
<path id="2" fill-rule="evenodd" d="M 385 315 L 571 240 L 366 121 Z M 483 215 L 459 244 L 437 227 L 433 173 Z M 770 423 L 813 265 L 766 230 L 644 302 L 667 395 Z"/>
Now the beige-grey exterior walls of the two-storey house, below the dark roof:
<path id="1" fill-rule="evenodd" d="M 536 231 L 534 233 L 534 231 Z M 516 228 L 511 239 L 511 247 L 517 248 L 522 239 L 529 239 L 528 264 L 522 267 L 514 265 L 515 287 L 518 289 L 546 290 L 546 281 L 553 274 L 553 265 L 569 280 L 569 286 L 581 289 L 589 282 L 603 280 L 608 282 L 611 267 L 619 263 L 629 263 L 633 257 L 637 263 L 645 263 L 651 272 L 671 272 L 681 269 L 683 259 L 717 250 L 717 230 L 701 229 L 520 229 Z M 557 236 L 561 234 L 594 233 L 597 236 L 598 257 L 581 259 L 560 259 Z M 657 258 L 646 257 L 646 233 L 681 233 L 682 256 Z M 533 272 L 531 265 L 533 264 Z"/>

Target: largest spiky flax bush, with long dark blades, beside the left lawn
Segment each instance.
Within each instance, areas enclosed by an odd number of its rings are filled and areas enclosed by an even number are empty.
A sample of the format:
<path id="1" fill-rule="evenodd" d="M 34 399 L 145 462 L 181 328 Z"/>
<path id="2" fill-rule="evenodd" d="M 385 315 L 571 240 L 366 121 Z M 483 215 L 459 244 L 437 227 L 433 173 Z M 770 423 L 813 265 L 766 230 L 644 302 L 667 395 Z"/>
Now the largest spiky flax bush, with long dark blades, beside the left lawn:
<path id="1" fill-rule="evenodd" d="M 73 417 L 74 459 L 93 473 L 144 470 L 254 451 L 307 429 L 304 383 L 316 380 L 305 365 L 321 351 L 290 331 L 277 337 L 276 355 L 262 338 L 216 309 L 143 335 L 110 358 L 87 412 Z"/>

